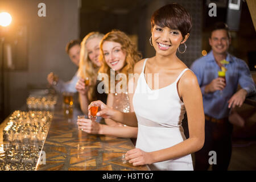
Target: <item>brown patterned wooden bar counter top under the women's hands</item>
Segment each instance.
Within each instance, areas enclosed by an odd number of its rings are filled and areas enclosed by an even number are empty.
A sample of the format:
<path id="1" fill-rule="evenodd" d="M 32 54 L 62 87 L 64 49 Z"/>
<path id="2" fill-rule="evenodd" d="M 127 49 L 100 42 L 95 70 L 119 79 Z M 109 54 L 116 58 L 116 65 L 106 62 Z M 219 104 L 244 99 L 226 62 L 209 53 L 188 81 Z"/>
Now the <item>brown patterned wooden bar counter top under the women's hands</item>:
<path id="1" fill-rule="evenodd" d="M 46 154 L 46 164 L 38 164 L 36 170 L 150 170 L 148 166 L 134 167 L 122 161 L 122 155 L 135 148 L 130 139 L 92 135 L 78 130 L 76 118 L 79 112 L 76 109 L 73 109 L 72 117 L 68 117 L 60 105 L 55 107 L 42 149 Z"/>

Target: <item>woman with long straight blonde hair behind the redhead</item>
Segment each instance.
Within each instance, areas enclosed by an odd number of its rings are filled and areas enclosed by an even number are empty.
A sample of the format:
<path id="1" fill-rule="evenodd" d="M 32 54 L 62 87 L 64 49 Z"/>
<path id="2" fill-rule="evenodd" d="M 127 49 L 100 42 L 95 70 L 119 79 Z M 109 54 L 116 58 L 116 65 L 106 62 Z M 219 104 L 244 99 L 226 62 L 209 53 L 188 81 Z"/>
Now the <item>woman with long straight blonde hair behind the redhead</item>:
<path id="1" fill-rule="evenodd" d="M 100 41 L 104 34 L 100 32 L 90 32 L 81 42 L 81 53 L 78 76 L 79 81 L 76 89 L 79 92 L 80 106 L 83 113 L 88 113 L 88 103 L 101 100 L 106 103 L 106 94 L 97 92 L 97 73 L 101 67 Z M 89 85 L 85 85 L 85 80 L 89 80 Z"/>

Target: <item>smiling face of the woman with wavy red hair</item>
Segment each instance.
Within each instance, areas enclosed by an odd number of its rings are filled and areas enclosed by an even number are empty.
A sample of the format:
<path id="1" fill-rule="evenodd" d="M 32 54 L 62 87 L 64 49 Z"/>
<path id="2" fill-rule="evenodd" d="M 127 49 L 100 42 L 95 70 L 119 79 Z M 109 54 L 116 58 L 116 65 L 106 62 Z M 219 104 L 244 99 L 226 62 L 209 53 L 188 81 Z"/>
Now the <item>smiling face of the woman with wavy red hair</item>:
<path id="1" fill-rule="evenodd" d="M 122 50 L 121 44 L 105 41 L 102 44 L 104 59 L 114 71 L 120 71 L 125 65 L 126 53 Z"/>

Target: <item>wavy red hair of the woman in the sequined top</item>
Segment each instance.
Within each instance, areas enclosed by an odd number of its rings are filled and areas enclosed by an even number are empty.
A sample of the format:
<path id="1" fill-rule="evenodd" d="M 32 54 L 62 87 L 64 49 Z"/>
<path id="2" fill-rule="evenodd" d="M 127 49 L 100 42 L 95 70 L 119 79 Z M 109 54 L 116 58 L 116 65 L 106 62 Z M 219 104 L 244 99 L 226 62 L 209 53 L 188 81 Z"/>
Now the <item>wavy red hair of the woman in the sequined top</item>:
<path id="1" fill-rule="evenodd" d="M 108 32 L 104 36 L 104 38 L 101 39 L 100 42 L 100 61 L 101 61 L 101 68 L 98 71 L 99 73 L 105 73 L 108 75 L 109 81 L 104 81 L 105 84 L 105 92 L 110 91 L 110 67 L 105 61 L 104 52 L 102 50 L 102 45 L 105 41 L 110 42 L 116 42 L 121 44 L 121 49 L 123 52 L 126 53 L 125 57 L 125 65 L 121 69 L 119 73 L 124 73 L 126 77 L 128 78 L 129 73 L 133 73 L 133 67 L 134 64 L 137 63 L 137 61 L 142 59 L 142 55 L 140 52 L 137 51 L 136 45 L 131 42 L 131 39 L 125 34 L 125 32 L 119 31 L 119 30 L 112 30 L 111 32 Z M 115 74 L 117 74 L 115 72 Z"/>

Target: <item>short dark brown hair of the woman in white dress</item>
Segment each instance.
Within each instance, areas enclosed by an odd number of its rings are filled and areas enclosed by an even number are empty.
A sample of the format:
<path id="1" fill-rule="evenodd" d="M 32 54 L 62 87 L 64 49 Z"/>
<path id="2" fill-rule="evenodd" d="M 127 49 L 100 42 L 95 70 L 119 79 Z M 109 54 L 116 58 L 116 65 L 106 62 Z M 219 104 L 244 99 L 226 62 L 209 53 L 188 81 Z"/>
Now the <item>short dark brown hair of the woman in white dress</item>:
<path id="1" fill-rule="evenodd" d="M 192 19 L 183 6 L 172 3 L 154 12 L 151 16 L 151 32 L 155 25 L 179 30 L 184 38 L 191 31 Z"/>

